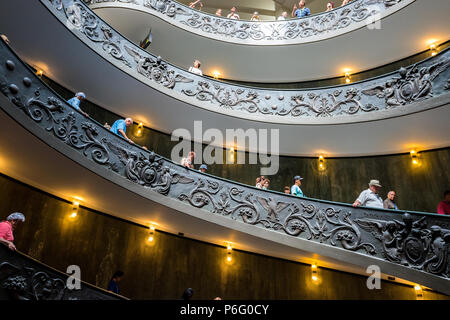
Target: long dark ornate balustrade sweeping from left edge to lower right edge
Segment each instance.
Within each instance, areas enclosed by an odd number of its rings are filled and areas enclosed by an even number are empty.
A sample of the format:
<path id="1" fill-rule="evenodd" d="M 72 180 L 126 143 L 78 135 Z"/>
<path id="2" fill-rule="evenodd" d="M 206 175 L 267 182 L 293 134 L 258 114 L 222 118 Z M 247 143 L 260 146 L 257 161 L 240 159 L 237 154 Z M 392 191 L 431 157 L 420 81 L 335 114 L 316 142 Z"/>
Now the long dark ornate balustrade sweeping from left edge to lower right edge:
<path id="1" fill-rule="evenodd" d="M 144 196 L 157 196 L 157 201 L 175 204 L 186 214 L 200 212 L 205 219 L 220 216 L 251 232 L 270 231 L 295 239 L 302 248 L 315 244 L 318 251 L 332 250 L 329 254 L 341 261 L 383 265 L 386 272 L 417 282 L 422 279 L 450 294 L 448 216 L 353 208 L 256 189 L 184 168 L 127 143 L 73 109 L 3 42 L 0 91 L 11 102 L 1 106 L 6 113 L 60 152 L 69 148 L 82 159 L 76 161 L 105 179 L 135 186 Z M 28 119 L 28 126 L 22 118 Z"/>

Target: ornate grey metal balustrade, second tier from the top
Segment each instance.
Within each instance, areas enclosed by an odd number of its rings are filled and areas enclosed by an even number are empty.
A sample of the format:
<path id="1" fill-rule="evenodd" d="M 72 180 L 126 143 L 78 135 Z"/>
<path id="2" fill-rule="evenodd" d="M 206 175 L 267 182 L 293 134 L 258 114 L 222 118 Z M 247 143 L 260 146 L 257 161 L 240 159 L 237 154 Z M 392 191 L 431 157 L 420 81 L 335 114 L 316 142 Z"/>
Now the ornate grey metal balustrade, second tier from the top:
<path id="1" fill-rule="evenodd" d="M 371 121 L 435 107 L 417 102 L 449 93 L 450 50 L 398 72 L 350 85 L 266 90 L 215 81 L 170 65 L 122 37 L 81 0 L 41 2 L 118 68 L 178 100 L 234 117 L 288 124 Z"/>

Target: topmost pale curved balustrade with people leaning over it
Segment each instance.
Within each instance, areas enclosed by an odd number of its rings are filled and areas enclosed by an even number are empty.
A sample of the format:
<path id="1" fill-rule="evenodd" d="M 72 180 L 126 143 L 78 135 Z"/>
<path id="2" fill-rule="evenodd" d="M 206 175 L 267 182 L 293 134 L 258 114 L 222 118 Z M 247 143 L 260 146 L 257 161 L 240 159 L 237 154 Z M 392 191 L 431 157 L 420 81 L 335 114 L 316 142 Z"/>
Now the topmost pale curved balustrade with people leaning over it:
<path id="1" fill-rule="evenodd" d="M 329 12 L 285 21 L 245 21 L 204 13 L 172 0 L 84 0 L 92 9 L 120 7 L 155 15 L 189 32 L 250 45 L 285 45 L 338 36 L 369 25 L 414 0 L 355 0 Z"/>

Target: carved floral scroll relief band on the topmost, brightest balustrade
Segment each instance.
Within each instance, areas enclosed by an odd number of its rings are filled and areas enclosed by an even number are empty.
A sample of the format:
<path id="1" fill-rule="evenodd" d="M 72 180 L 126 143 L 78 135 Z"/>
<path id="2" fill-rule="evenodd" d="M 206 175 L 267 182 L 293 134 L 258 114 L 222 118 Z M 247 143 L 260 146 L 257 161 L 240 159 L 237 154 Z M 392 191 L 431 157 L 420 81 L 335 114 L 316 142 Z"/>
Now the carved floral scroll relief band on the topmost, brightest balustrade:
<path id="1" fill-rule="evenodd" d="M 90 5 L 127 3 L 158 11 L 192 31 L 199 30 L 211 36 L 222 36 L 229 41 L 281 41 L 307 39 L 351 27 L 361 21 L 378 17 L 389 7 L 404 0 L 355 0 L 331 12 L 322 12 L 302 19 L 273 22 L 230 20 L 203 13 L 173 0 L 84 0 Z M 371 23 L 371 21 L 368 21 Z"/>

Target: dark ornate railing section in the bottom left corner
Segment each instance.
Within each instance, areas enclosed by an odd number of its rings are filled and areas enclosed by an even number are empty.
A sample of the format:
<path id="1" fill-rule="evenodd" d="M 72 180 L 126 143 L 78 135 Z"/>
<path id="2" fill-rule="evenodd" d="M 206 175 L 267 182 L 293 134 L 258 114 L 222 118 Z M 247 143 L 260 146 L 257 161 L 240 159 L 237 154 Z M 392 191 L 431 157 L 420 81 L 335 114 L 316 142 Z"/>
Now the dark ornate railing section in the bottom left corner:
<path id="1" fill-rule="evenodd" d="M 120 300 L 122 296 L 76 280 L 0 244 L 0 300 Z"/>

